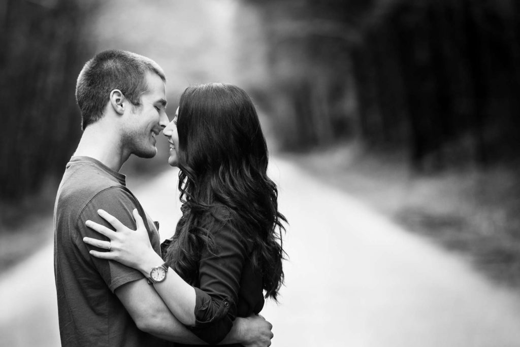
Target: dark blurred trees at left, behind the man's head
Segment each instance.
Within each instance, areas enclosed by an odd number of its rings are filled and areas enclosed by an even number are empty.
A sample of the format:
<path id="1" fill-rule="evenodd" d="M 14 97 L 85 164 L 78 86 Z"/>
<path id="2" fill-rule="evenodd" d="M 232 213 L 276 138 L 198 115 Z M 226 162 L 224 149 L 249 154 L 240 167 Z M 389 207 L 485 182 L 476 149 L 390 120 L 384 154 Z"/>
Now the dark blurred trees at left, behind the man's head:
<path id="1" fill-rule="evenodd" d="M 35 194 L 58 176 L 79 139 L 75 78 L 90 55 L 82 32 L 95 3 L 0 5 L 0 199 Z"/>

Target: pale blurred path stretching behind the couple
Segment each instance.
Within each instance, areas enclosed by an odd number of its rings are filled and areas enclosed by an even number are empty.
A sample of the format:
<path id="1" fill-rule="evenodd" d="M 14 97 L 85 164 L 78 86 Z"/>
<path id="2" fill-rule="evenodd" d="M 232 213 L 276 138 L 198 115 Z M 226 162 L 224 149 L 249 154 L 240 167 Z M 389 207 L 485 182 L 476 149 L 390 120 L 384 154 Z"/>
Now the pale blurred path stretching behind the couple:
<path id="1" fill-rule="evenodd" d="M 291 223 L 287 286 L 262 312 L 273 346 L 520 346 L 514 293 L 294 165 L 273 164 Z M 178 217 L 175 183 L 167 172 L 135 192 L 162 236 Z M 0 345 L 59 345 L 52 262 L 49 241 L 0 277 Z"/>

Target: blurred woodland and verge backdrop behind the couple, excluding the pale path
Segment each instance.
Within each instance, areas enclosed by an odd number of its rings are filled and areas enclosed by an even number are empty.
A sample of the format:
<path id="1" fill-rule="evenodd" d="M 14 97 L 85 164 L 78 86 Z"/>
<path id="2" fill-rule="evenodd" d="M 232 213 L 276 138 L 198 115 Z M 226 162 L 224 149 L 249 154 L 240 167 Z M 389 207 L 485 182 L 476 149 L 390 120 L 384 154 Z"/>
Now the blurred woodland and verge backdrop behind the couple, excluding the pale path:
<path id="1" fill-rule="evenodd" d="M 76 76 L 119 48 L 164 68 L 170 115 L 190 84 L 240 85 L 272 148 L 415 229 L 467 231 L 492 244 L 486 261 L 520 264 L 515 0 L 4 0 L 0 28 L 2 230 L 38 199 L 51 208 L 81 136 Z"/>

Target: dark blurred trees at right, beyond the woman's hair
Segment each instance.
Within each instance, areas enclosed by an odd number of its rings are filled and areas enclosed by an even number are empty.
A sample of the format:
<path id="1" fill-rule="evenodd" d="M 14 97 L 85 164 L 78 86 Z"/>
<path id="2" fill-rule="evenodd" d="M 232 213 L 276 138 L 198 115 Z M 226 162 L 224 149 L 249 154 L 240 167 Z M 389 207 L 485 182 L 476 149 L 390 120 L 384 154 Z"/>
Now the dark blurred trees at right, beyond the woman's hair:
<path id="1" fill-rule="evenodd" d="M 258 2 L 282 145 L 404 148 L 419 170 L 517 158 L 514 0 Z"/>

